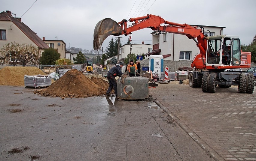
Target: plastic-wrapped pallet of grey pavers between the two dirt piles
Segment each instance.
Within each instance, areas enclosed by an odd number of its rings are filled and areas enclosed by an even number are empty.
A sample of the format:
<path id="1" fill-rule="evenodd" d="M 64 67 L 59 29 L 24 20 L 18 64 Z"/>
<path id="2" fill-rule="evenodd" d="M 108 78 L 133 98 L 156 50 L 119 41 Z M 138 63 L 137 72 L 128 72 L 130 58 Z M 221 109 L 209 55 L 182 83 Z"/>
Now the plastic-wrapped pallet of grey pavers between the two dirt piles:
<path id="1" fill-rule="evenodd" d="M 51 85 L 51 77 L 44 75 L 24 76 L 25 87 L 47 87 Z"/>

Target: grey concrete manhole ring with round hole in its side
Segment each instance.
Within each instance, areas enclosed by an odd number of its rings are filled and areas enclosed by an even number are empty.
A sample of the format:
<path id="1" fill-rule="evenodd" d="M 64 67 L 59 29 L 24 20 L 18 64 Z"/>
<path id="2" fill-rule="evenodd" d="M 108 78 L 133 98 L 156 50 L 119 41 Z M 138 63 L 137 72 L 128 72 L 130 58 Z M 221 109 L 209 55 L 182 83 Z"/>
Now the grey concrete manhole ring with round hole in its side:
<path id="1" fill-rule="evenodd" d="M 121 78 L 117 79 L 117 98 L 123 100 L 140 100 L 148 98 L 147 77 L 127 77 L 124 84 Z"/>

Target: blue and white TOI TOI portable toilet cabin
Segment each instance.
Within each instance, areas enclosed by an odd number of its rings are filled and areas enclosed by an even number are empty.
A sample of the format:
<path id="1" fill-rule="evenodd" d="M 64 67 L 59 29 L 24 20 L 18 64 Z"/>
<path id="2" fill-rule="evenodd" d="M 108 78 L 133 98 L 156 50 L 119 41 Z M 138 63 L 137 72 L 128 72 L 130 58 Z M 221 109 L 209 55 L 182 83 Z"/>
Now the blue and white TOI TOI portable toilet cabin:
<path id="1" fill-rule="evenodd" d="M 152 70 L 161 76 L 161 72 L 163 72 L 163 55 L 149 56 L 149 70 Z"/>

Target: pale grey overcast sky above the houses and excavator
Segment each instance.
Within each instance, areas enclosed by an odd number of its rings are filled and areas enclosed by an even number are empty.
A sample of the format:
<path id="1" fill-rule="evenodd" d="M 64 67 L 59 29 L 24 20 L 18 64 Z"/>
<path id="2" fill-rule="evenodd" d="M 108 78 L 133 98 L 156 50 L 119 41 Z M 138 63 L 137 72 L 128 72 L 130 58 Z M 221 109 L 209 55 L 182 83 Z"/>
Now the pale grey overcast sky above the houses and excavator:
<path id="1" fill-rule="evenodd" d="M 41 39 L 45 37 L 46 40 L 56 40 L 58 37 L 58 40 L 67 44 L 66 47 L 93 49 L 95 25 L 104 18 L 120 22 L 122 19 L 146 14 L 159 15 L 176 23 L 225 27 L 223 34 L 238 35 L 245 45 L 251 43 L 256 34 L 255 0 L 35 1 L 2 0 L 0 12 L 10 10 L 16 17 L 21 17 L 22 22 Z M 145 41 L 152 44 L 151 32 L 149 28 L 133 32 L 133 43 Z M 112 37 L 115 39 L 115 36 Z M 121 43 L 125 44 L 128 36 L 120 37 Z M 104 50 L 110 39 L 111 36 L 102 44 Z"/>

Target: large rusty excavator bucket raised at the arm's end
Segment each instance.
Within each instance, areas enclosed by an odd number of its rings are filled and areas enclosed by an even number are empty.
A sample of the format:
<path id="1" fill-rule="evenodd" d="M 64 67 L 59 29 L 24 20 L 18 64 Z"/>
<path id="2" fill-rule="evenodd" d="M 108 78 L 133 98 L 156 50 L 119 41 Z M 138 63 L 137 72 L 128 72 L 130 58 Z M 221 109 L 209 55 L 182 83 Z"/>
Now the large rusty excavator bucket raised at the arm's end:
<path id="1" fill-rule="evenodd" d="M 100 50 L 103 41 L 110 35 L 119 36 L 122 33 L 121 26 L 111 18 L 102 19 L 97 23 L 93 33 L 93 49 Z"/>

